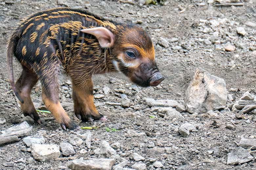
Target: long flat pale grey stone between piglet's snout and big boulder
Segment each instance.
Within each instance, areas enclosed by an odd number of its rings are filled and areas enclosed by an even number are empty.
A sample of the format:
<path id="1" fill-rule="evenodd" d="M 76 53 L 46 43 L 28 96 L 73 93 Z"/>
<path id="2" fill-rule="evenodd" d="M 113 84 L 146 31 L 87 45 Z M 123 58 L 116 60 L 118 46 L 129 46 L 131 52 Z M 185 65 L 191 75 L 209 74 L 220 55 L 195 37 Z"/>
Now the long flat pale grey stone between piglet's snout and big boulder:
<path id="1" fill-rule="evenodd" d="M 176 108 L 179 104 L 176 100 L 154 100 L 153 98 L 145 98 L 145 102 L 150 107 L 172 107 Z"/>

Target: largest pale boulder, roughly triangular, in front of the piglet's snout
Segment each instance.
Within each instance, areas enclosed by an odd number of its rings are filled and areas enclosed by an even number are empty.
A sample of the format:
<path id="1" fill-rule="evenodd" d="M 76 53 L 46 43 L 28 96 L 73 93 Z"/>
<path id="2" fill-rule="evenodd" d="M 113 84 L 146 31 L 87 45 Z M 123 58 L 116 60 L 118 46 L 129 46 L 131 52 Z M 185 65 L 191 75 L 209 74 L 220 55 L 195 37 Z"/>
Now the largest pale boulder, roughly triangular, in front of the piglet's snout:
<path id="1" fill-rule="evenodd" d="M 227 93 L 223 78 L 212 76 L 199 67 L 185 94 L 186 110 L 190 113 L 205 113 L 208 110 L 224 109 Z"/>

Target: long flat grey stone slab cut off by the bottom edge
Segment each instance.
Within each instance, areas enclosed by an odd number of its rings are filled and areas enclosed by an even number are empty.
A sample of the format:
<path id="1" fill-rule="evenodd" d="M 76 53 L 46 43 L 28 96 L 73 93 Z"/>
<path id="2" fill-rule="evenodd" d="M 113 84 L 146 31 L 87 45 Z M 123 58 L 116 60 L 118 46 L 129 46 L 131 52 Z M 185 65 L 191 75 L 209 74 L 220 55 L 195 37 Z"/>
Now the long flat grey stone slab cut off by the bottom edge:
<path id="1" fill-rule="evenodd" d="M 95 159 L 82 160 L 76 159 L 68 161 L 68 167 L 72 170 L 111 170 L 114 165 L 113 159 Z"/>

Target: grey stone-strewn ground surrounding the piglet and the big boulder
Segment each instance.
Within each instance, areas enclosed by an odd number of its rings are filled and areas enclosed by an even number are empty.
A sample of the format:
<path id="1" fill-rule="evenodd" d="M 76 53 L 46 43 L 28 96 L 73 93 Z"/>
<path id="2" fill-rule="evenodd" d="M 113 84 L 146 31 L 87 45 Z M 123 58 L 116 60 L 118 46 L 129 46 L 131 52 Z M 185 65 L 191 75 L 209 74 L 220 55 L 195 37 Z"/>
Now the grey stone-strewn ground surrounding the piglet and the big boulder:
<path id="1" fill-rule="evenodd" d="M 256 3 L 241 2 L 0 0 L 0 169 L 88 169 L 92 164 L 116 170 L 256 169 Z M 39 113 L 42 125 L 37 125 L 22 117 L 9 92 L 5 47 L 16 23 L 34 12 L 67 6 L 142 26 L 166 78 L 155 88 L 140 88 L 121 74 L 95 76 L 95 103 L 108 121 L 82 123 L 74 115 L 71 82 L 62 76 L 63 107 L 79 127 L 93 129 L 63 131 L 49 113 Z M 198 66 L 225 80 L 224 109 L 186 111 L 185 92 Z M 14 70 L 17 79 L 16 61 Z M 32 98 L 37 109 L 45 109 L 40 83 Z"/>

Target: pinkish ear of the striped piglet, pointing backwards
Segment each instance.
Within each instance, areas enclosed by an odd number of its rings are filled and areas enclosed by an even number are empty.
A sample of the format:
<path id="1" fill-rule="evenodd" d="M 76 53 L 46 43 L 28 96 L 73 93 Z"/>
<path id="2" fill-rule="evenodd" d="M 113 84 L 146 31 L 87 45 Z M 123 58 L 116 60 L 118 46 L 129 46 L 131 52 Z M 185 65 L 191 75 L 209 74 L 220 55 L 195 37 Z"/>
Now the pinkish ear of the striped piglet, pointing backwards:
<path id="1" fill-rule="evenodd" d="M 102 47 L 111 47 L 114 45 L 115 36 L 109 29 L 105 27 L 82 29 L 81 31 L 94 35 Z"/>

